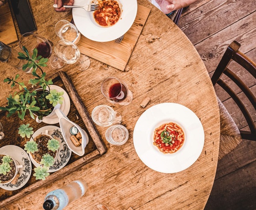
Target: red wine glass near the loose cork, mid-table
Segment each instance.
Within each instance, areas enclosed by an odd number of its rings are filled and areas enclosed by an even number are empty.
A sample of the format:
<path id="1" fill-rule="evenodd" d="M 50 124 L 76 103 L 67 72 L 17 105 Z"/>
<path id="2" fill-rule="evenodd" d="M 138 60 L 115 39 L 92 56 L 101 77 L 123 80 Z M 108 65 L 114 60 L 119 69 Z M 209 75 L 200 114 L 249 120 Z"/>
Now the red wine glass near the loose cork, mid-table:
<path id="1" fill-rule="evenodd" d="M 133 94 L 125 82 L 115 77 L 109 77 L 102 82 L 102 94 L 113 104 L 129 105 L 132 102 Z"/>

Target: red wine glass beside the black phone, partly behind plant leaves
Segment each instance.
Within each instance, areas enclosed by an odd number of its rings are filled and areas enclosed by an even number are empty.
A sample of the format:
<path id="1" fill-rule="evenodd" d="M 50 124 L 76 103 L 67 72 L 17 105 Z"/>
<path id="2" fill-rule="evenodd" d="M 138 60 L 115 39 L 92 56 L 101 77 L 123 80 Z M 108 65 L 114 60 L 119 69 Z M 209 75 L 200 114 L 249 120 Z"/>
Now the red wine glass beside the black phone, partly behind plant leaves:
<path id="1" fill-rule="evenodd" d="M 48 39 L 31 32 L 25 33 L 19 40 L 19 47 L 23 50 L 26 47 L 29 54 L 33 54 L 33 50 L 38 49 L 38 55 L 43 58 L 49 58 L 52 54 L 52 46 Z"/>

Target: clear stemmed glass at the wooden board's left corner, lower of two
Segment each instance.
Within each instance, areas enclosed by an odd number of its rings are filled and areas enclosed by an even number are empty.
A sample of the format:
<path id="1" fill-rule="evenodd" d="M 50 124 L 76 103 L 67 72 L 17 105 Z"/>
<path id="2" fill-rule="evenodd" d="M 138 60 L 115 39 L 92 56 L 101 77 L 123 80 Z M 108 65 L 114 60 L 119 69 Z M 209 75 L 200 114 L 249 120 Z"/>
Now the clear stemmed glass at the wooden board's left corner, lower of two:
<path id="1" fill-rule="evenodd" d="M 75 64 L 79 59 L 79 48 L 68 40 L 60 40 L 57 42 L 55 53 L 50 57 L 50 64 L 53 68 L 61 68 L 64 64 Z"/>

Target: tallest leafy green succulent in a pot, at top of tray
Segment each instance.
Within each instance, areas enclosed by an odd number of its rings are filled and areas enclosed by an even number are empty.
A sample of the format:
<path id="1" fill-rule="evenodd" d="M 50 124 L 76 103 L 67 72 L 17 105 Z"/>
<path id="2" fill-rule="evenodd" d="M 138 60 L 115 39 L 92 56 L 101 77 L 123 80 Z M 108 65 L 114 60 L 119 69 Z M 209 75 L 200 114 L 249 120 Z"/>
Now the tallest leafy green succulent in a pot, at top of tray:
<path id="1" fill-rule="evenodd" d="M 14 95 L 10 95 L 7 98 L 8 105 L 5 107 L 0 107 L 1 110 L 8 111 L 8 117 L 18 113 L 18 116 L 21 120 L 24 120 L 24 116 L 29 112 L 30 116 L 35 119 L 37 116 L 37 121 L 43 119 L 45 116 L 49 116 L 53 113 L 54 107 L 63 103 L 64 94 L 63 91 L 57 92 L 56 90 L 50 90 L 50 85 L 53 84 L 52 80 L 46 80 L 46 73 L 43 72 L 41 67 L 46 66 L 47 58 L 42 58 L 37 56 L 38 50 L 34 49 L 33 55 L 30 56 L 27 49 L 23 47 L 24 53 L 19 53 L 19 59 L 27 60 L 27 64 L 23 65 L 23 70 L 26 70 L 27 67 L 33 68 L 32 75 L 34 79 L 29 80 L 29 84 L 32 86 L 31 89 L 28 89 L 24 82 L 18 82 L 19 74 L 14 78 L 6 78 L 4 82 L 8 82 L 11 85 L 11 88 L 16 85 L 19 86 L 21 92 L 15 92 Z M 41 75 L 38 75 L 36 70 L 41 71 Z M 41 86 L 40 89 L 34 89 L 36 86 Z"/>

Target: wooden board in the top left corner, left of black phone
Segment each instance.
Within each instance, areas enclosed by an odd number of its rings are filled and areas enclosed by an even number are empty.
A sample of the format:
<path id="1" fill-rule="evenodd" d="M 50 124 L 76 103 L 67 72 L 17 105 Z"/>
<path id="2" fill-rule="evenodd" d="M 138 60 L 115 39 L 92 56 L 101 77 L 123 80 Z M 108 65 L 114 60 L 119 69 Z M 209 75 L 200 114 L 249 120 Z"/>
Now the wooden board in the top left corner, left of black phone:
<path id="1" fill-rule="evenodd" d="M 8 2 L 0 8 L 0 41 L 6 45 L 18 41 Z"/>

